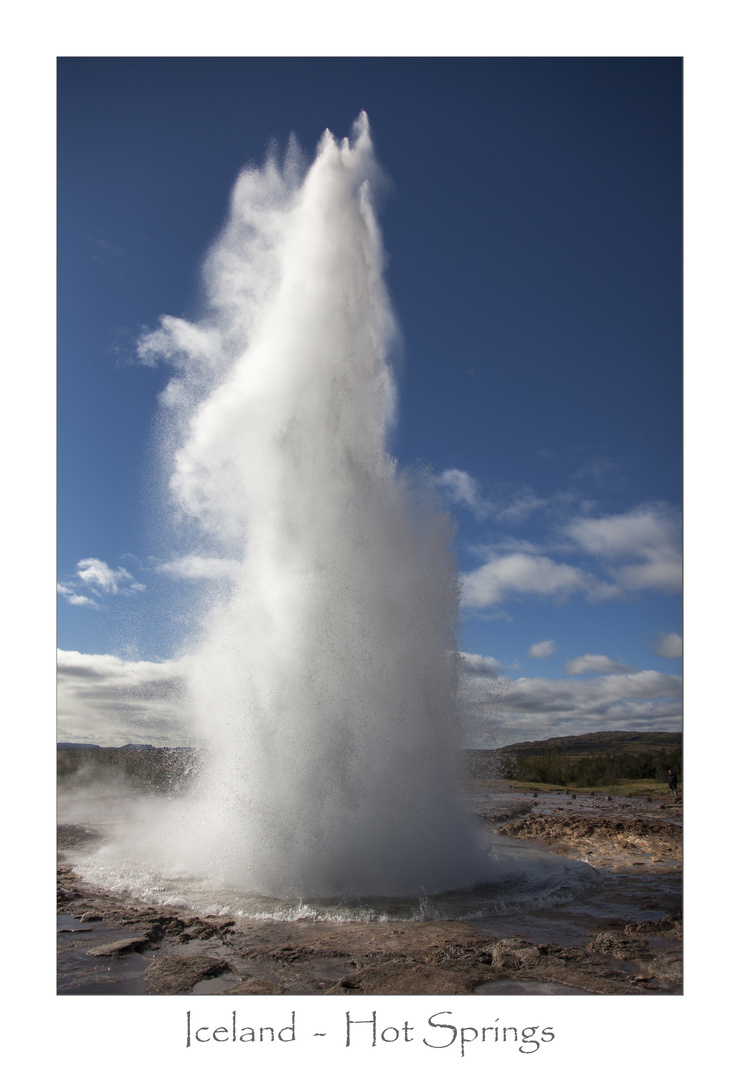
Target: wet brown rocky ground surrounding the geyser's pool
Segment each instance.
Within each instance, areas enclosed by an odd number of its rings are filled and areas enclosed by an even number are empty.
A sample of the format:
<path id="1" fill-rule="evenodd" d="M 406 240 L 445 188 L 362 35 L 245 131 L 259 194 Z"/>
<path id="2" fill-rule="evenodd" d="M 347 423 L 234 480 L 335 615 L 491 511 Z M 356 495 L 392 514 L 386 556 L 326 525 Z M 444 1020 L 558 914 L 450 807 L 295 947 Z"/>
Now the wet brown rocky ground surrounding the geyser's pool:
<path id="1" fill-rule="evenodd" d="M 59 827 L 60 994 L 677 994 L 682 809 L 608 796 L 479 794 L 494 832 L 608 872 L 588 903 L 485 920 L 267 922 L 102 893 L 98 839 Z"/>

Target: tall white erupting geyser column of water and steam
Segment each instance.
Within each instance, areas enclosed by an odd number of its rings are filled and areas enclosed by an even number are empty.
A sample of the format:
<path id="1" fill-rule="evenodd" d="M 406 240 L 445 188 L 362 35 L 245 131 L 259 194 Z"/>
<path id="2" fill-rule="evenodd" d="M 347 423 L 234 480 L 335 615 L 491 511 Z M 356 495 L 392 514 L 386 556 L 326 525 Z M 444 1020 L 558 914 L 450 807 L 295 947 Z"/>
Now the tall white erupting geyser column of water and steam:
<path id="1" fill-rule="evenodd" d="M 483 876 L 458 793 L 453 530 L 386 447 L 379 178 L 364 113 L 305 174 L 294 147 L 244 171 L 207 314 L 140 346 L 176 365 L 171 490 L 230 575 L 189 663 L 206 754 L 180 859 L 278 897 Z"/>

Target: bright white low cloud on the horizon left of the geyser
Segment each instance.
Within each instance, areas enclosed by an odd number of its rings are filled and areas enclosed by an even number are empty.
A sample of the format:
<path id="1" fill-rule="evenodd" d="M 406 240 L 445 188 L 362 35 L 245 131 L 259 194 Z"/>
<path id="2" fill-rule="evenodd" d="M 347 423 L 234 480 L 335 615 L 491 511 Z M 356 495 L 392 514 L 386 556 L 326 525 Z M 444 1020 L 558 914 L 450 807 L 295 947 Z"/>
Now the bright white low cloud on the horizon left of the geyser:
<path id="1" fill-rule="evenodd" d="M 121 660 L 59 649 L 57 739 L 120 746 L 190 742 L 183 661 Z"/>

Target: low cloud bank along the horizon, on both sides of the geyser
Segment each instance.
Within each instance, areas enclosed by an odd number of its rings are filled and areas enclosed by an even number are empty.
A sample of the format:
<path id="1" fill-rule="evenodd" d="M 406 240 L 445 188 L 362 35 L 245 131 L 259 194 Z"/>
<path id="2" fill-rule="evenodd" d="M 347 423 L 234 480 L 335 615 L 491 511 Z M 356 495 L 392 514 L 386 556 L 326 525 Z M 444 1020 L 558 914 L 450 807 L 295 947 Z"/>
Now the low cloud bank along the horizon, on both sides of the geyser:
<path id="1" fill-rule="evenodd" d="M 60 649 L 58 741 L 191 745 L 186 663 L 186 658 L 153 662 Z M 582 670 L 597 667 L 586 664 Z M 495 658 L 461 652 L 460 690 L 465 746 L 495 747 L 589 731 L 681 730 L 681 676 L 655 671 L 512 679 Z"/>

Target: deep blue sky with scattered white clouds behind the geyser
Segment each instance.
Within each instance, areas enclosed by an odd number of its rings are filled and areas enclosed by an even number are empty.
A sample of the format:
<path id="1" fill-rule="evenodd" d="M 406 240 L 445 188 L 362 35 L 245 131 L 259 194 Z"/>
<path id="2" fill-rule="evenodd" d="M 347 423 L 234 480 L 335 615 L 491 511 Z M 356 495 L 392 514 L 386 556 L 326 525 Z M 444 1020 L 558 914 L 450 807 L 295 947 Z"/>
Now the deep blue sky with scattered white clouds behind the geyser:
<path id="1" fill-rule="evenodd" d="M 681 62 L 65 59 L 60 738 L 185 738 L 170 372 L 136 341 L 197 316 L 240 167 L 291 132 L 310 157 L 361 109 L 391 181 L 391 449 L 458 521 L 469 741 L 492 708 L 506 741 L 680 724 Z"/>

